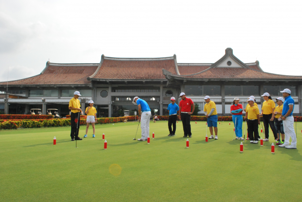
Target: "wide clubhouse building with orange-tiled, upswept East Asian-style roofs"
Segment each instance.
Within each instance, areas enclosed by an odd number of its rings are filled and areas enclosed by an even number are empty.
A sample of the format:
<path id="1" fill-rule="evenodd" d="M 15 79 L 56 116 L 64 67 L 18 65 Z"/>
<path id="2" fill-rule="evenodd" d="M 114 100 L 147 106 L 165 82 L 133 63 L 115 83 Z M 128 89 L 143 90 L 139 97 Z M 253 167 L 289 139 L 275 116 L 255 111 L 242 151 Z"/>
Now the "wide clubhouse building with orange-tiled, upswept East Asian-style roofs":
<path id="1" fill-rule="evenodd" d="M 288 67 L 291 68 L 291 67 Z M 294 70 L 294 69 L 292 69 Z M 8 87 L 8 90 L 6 90 Z M 46 63 L 36 76 L 0 82 L 0 111 L 5 114 L 30 114 L 39 108 L 58 109 L 60 116 L 69 114 L 68 103 L 78 90 L 82 110 L 93 100 L 97 117 L 118 117 L 129 110 L 137 111 L 132 99 L 148 102 L 152 115 L 169 115 L 170 97 L 181 92 L 200 105 L 203 116 L 204 97 L 216 103 L 219 116 L 230 116 L 230 106 L 239 97 L 244 106 L 249 96 L 258 105 L 268 92 L 273 100 L 289 88 L 295 101 L 294 116 L 302 114 L 302 76 L 264 72 L 259 62 L 243 63 L 231 48 L 215 63 L 177 63 L 176 55 L 163 58 L 114 58 L 101 56 L 100 63 Z M 178 100 L 180 101 L 180 100 Z"/>

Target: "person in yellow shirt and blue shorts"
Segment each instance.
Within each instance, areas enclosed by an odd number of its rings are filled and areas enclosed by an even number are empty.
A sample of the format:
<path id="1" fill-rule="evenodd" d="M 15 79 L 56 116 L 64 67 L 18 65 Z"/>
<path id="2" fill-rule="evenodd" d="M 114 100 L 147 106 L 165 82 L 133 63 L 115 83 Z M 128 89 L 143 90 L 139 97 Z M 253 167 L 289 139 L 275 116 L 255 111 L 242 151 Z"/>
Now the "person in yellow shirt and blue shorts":
<path id="1" fill-rule="evenodd" d="M 218 116 L 217 116 L 217 110 L 216 110 L 216 104 L 215 102 L 210 100 L 209 96 L 206 96 L 204 100 L 207 102 L 204 107 L 204 113 L 206 117 L 208 118 L 208 129 L 210 130 L 211 136 L 209 139 L 214 139 L 213 135 L 213 127 L 215 131 L 215 139 L 218 139 L 218 128 L 217 128 L 217 121 L 218 121 Z"/>

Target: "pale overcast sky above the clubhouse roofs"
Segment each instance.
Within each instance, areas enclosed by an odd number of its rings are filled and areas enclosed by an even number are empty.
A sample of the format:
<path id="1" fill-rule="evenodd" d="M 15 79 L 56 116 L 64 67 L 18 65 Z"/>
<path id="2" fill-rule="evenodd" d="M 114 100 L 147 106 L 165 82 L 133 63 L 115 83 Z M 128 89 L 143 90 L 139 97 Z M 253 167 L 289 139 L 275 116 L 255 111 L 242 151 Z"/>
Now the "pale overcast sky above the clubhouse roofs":
<path id="1" fill-rule="evenodd" d="M 0 0 L 0 81 L 53 63 L 168 57 L 214 63 L 232 48 L 266 72 L 302 75 L 299 0 Z"/>

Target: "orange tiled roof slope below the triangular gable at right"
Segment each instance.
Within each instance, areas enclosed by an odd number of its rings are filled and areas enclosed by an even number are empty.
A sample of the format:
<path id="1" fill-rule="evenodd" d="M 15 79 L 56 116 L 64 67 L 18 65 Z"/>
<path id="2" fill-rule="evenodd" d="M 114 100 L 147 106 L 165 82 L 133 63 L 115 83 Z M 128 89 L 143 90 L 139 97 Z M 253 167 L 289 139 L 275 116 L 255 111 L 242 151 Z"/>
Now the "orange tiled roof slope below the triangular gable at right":
<path id="1" fill-rule="evenodd" d="M 249 68 L 208 68 L 200 73 L 191 75 L 171 75 L 192 79 L 302 79 L 302 76 L 286 76 L 257 71 Z"/>

